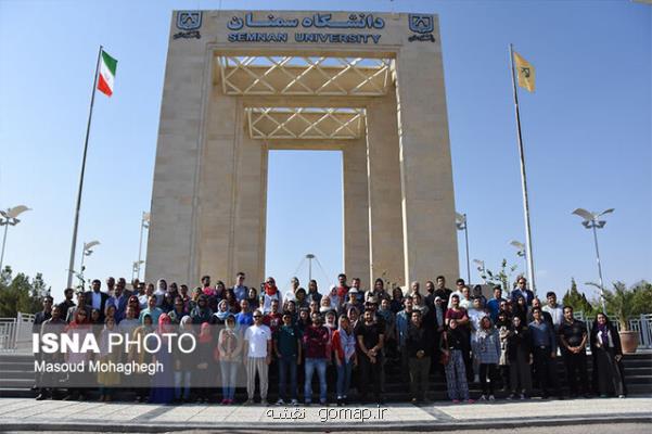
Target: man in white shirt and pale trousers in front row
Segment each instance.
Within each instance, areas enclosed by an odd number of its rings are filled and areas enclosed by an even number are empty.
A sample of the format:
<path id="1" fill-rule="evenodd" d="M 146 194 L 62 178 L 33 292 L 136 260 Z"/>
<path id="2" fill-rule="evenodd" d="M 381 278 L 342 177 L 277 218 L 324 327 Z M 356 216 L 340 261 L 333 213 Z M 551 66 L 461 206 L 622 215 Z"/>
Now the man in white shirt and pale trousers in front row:
<path id="1" fill-rule="evenodd" d="M 256 390 L 256 372 L 260 381 L 260 404 L 267 405 L 268 373 L 271 362 L 271 330 L 263 323 L 263 312 L 254 312 L 254 324 L 244 332 L 244 360 L 246 366 L 245 405 L 254 404 Z"/>

